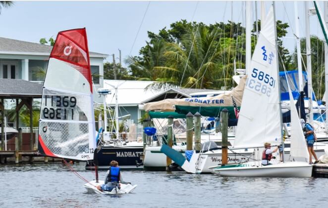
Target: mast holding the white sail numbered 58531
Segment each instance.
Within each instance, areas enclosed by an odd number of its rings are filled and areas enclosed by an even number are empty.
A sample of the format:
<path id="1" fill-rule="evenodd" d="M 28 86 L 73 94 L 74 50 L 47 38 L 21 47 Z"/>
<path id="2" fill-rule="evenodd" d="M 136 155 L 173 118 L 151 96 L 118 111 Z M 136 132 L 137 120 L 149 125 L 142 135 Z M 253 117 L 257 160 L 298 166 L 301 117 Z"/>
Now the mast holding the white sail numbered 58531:
<path id="1" fill-rule="evenodd" d="M 278 37 L 277 37 L 277 25 L 276 25 L 276 20 L 275 20 L 275 3 L 273 1 L 273 21 L 274 21 L 274 38 L 275 38 L 275 54 L 276 54 L 276 64 L 277 64 L 277 83 L 280 83 L 279 81 L 279 55 L 278 55 Z M 277 84 L 278 86 L 278 92 L 280 92 L 280 84 Z M 284 151 L 284 142 L 283 142 L 283 135 L 282 135 L 282 114 L 281 114 L 281 99 L 280 99 L 280 95 L 278 96 L 278 102 L 279 102 L 279 118 L 280 118 L 280 132 L 281 132 L 281 143 L 282 143 L 282 162 L 284 162 L 284 155 L 285 155 L 285 151 Z"/>

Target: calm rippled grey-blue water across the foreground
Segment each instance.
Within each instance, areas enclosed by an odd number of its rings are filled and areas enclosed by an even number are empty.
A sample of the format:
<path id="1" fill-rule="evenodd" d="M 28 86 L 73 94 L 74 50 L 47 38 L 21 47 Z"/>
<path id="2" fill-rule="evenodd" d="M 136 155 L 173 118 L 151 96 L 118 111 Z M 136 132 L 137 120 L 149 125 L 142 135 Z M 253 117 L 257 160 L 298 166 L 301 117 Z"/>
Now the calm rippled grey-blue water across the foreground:
<path id="1" fill-rule="evenodd" d="M 94 172 L 73 167 L 86 179 Z M 106 171 L 100 171 L 103 180 Z M 184 172 L 122 171 L 133 194 L 86 194 L 61 164 L 0 165 L 0 207 L 165 208 L 328 207 L 328 178 L 233 178 Z"/>

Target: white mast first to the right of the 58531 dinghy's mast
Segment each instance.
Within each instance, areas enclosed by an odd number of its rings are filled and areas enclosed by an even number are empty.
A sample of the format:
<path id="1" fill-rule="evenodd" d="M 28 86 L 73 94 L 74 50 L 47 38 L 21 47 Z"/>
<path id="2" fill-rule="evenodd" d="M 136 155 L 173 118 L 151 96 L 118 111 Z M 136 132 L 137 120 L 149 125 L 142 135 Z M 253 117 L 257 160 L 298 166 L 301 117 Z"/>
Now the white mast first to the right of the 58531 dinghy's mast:
<path id="1" fill-rule="evenodd" d="M 297 68 L 298 68 L 298 83 L 300 92 L 303 91 L 303 76 L 302 76 L 302 57 L 301 57 L 301 42 L 300 42 L 300 29 L 299 29 L 299 16 L 297 1 L 294 1 L 295 11 L 295 34 L 296 36 L 296 49 L 297 49 Z"/>

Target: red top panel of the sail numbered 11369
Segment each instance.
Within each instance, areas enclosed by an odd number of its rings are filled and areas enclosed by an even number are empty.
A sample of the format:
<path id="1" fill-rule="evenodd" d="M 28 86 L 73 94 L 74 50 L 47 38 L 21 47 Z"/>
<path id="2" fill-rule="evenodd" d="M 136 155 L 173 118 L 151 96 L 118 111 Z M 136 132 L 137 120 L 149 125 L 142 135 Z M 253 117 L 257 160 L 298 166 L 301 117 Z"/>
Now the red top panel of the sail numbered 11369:
<path id="1" fill-rule="evenodd" d="M 90 58 L 85 28 L 59 32 L 50 57 L 72 64 L 87 79 L 92 92 Z"/>

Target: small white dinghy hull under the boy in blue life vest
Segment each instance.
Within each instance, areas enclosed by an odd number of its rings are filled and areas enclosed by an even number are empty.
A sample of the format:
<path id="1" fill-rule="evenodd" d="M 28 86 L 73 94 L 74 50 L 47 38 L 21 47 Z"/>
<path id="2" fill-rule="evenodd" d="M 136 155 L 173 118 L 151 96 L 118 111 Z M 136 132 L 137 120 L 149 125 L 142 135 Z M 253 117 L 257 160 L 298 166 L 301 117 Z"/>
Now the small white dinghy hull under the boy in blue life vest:
<path id="1" fill-rule="evenodd" d="M 103 180 L 99 180 L 98 183 L 96 180 L 92 180 L 89 183 L 84 184 L 84 188 L 87 189 L 87 193 L 89 194 L 128 194 L 132 193 L 133 190 L 137 187 L 137 185 L 132 186 L 131 184 L 122 184 L 121 188 L 113 189 L 111 191 L 100 191 L 97 189 L 98 185 L 104 184 Z"/>

